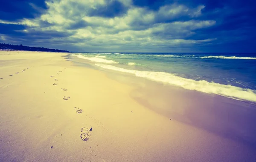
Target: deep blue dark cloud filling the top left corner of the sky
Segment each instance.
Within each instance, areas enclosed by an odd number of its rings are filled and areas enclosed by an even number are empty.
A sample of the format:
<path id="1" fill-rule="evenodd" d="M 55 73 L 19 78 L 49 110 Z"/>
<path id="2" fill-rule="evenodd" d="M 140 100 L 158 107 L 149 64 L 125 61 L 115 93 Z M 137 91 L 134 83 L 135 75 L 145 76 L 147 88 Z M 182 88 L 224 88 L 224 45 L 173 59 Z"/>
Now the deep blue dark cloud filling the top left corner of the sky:
<path id="1" fill-rule="evenodd" d="M 34 18 L 47 9 L 44 0 L 2 0 L 0 2 L 0 20 L 18 20 Z"/>

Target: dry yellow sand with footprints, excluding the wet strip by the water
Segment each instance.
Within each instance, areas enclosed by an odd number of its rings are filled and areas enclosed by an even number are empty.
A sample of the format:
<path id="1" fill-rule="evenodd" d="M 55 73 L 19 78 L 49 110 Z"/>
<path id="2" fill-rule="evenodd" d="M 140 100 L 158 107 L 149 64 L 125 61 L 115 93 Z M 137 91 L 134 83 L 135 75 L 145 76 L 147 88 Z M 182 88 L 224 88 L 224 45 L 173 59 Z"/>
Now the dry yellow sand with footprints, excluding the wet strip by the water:
<path id="1" fill-rule="evenodd" d="M 1 162 L 255 161 L 254 147 L 170 120 L 135 87 L 66 57 L 0 51 Z"/>

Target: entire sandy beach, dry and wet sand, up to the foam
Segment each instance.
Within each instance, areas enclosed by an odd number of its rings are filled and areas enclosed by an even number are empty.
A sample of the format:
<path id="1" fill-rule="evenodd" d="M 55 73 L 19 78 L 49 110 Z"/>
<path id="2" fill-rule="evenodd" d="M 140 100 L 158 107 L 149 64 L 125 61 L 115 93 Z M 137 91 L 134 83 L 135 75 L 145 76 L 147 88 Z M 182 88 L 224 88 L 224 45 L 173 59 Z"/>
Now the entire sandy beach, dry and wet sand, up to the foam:
<path id="1" fill-rule="evenodd" d="M 69 53 L 0 51 L 1 162 L 255 162 L 255 108 Z"/>

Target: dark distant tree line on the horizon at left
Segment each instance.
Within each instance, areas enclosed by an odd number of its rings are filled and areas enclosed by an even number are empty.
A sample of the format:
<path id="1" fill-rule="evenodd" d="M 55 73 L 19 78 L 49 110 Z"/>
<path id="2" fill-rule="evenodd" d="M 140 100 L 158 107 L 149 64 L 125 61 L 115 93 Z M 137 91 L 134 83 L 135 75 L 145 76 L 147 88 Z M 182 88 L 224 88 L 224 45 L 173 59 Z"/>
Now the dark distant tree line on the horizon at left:
<path id="1" fill-rule="evenodd" d="M 5 43 L 0 43 L 0 49 L 2 50 L 29 50 L 29 51 L 47 51 L 47 52 L 69 52 L 68 50 L 56 50 L 44 47 L 29 47 L 25 45 L 10 45 Z"/>

